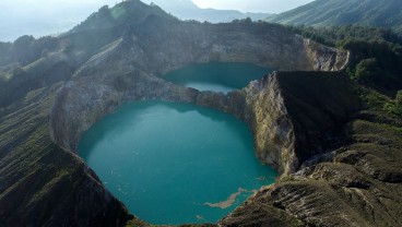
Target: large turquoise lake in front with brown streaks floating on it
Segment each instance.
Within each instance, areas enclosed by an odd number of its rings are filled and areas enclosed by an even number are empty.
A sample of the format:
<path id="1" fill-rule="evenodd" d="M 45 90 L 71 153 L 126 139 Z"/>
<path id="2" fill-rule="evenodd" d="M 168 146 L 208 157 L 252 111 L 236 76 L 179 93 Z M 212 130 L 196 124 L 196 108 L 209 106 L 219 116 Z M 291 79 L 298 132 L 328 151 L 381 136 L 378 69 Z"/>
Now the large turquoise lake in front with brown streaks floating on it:
<path id="1" fill-rule="evenodd" d="M 125 104 L 84 133 L 79 153 L 151 224 L 215 223 L 276 177 L 244 122 L 191 104 Z"/>

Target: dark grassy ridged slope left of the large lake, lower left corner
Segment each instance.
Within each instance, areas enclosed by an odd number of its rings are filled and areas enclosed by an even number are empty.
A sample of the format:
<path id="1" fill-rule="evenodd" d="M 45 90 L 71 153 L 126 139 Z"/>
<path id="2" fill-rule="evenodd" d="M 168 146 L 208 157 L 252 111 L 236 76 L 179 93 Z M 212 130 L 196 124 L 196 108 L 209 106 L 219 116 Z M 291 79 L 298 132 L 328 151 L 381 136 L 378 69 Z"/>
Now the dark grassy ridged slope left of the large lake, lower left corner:
<path id="1" fill-rule="evenodd" d="M 56 88 L 0 109 L 0 223 L 4 226 L 109 226 L 127 211 L 84 163 L 49 138 Z"/>

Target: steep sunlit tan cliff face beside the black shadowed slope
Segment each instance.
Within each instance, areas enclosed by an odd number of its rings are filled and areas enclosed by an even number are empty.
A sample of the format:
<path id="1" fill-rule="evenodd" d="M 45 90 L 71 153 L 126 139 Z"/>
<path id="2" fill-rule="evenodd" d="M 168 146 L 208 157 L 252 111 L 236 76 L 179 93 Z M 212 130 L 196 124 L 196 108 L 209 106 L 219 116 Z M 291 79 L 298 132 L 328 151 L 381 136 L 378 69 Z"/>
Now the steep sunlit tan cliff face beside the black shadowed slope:
<path id="1" fill-rule="evenodd" d="M 244 89 L 245 120 L 255 135 L 256 155 L 287 175 L 299 166 L 295 155 L 295 131 L 279 83 L 279 75 L 268 75 Z"/>

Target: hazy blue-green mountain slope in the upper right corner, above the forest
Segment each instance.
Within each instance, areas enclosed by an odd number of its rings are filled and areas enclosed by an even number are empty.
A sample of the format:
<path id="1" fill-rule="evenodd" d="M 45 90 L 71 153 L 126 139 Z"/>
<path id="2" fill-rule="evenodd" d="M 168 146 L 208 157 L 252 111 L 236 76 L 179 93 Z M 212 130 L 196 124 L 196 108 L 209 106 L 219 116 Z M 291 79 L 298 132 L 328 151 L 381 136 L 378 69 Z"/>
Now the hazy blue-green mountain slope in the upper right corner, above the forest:
<path id="1" fill-rule="evenodd" d="M 272 15 L 269 22 L 293 25 L 370 25 L 402 28 L 401 0 L 316 0 Z"/>

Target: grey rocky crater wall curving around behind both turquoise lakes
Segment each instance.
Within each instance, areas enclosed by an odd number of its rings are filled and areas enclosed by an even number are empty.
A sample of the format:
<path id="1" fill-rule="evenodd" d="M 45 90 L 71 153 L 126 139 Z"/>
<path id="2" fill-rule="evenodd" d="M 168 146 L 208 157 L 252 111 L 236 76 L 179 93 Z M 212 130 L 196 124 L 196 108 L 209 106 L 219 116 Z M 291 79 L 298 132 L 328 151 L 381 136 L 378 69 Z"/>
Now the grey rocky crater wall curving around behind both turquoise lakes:
<path id="1" fill-rule="evenodd" d="M 280 70 L 327 71 L 338 70 L 338 65 L 347 62 L 347 58 L 342 57 L 344 52 L 318 44 L 312 45 L 311 41 L 276 26 L 184 23 L 179 24 L 180 26 L 169 24 L 169 29 L 166 31 L 163 29 L 166 24 L 154 24 L 153 20 L 147 19 L 142 25 L 161 26 L 158 28 L 163 32 L 150 34 L 138 25 L 128 26 L 122 38 L 105 46 L 93 56 L 61 88 L 50 111 L 50 135 L 61 147 L 76 152 L 82 133 L 94 122 L 111 112 L 119 104 L 139 99 L 197 103 L 229 111 L 248 121 L 252 129 L 260 127 L 260 123 L 256 122 L 264 118 L 261 117 L 264 115 L 262 110 L 255 115 L 257 121 L 250 120 L 251 108 L 248 108 L 248 112 L 239 112 L 245 101 L 249 105 L 250 101 L 257 101 L 257 106 L 263 103 L 262 99 L 255 100 L 256 94 L 252 89 L 256 87 L 252 85 L 237 95 L 237 100 L 230 100 L 230 107 L 224 107 L 224 100 L 227 101 L 230 97 L 200 93 L 155 76 L 191 62 L 252 62 Z M 267 95 L 276 96 L 271 97 L 272 101 L 280 100 L 279 93 Z M 223 100 L 218 100 L 220 98 Z M 210 100 L 209 104 L 205 103 L 206 99 Z M 265 106 L 281 108 L 279 104 L 273 103 Z M 267 111 L 267 108 L 263 111 Z M 277 130 L 284 130 L 285 127 L 284 122 L 280 123 Z M 263 145 L 257 141 L 262 141 L 270 132 L 261 134 L 260 130 L 257 131 L 255 133 L 259 134 L 256 136 L 260 140 L 256 140 L 256 144 L 259 150 Z M 259 157 L 265 163 L 280 163 L 277 158 L 269 157 L 265 153 L 259 153 Z"/>

